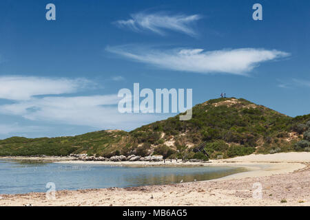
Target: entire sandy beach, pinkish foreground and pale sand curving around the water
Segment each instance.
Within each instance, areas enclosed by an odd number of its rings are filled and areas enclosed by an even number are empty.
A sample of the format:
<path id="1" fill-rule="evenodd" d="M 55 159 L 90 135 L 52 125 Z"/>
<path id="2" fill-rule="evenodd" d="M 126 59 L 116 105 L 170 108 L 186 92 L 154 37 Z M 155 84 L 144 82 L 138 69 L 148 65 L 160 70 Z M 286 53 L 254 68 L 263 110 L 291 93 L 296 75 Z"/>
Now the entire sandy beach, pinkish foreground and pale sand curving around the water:
<path id="1" fill-rule="evenodd" d="M 36 159 L 35 157 L 31 157 Z M 21 158 L 19 159 L 27 159 Z M 29 158 L 28 158 L 29 159 Z M 248 155 L 208 163 L 81 162 L 70 158 L 37 158 L 70 164 L 116 166 L 238 166 L 247 172 L 220 179 L 134 188 L 56 191 L 56 199 L 44 192 L 0 195 L 0 206 L 309 206 L 310 153 Z M 260 190 L 261 188 L 261 190 Z M 262 192 L 261 197 L 258 192 Z"/>

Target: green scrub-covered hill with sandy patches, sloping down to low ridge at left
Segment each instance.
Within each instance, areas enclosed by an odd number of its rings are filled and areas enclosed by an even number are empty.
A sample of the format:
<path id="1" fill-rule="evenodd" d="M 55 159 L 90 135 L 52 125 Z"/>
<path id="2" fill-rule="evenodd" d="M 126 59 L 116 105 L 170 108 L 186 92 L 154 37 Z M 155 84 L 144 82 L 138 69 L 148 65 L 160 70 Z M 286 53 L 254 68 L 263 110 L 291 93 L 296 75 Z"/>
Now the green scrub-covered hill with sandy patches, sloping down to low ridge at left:
<path id="1" fill-rule="evenodd" d="M 96 131 L 74 137 L 0 140 L 0 155 L 152 155 L 204 159 L 192 148 L 206 141 L 211 158 L 251 153 L 309 151 L 310 114 L 291 118 L 245 99 L 218 98 L 193 107 L 191 120 L 179 115 L 130 132 Z M 302 140 L 304 138 L 304 140 Z"/>

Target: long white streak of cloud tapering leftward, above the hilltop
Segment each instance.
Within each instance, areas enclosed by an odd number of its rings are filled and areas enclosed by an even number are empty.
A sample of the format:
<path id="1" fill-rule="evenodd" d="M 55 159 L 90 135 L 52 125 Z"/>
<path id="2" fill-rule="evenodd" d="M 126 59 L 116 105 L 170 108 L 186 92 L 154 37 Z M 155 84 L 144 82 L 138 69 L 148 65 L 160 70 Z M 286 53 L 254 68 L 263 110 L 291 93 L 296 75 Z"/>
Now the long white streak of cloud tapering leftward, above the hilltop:
<path id="1" fill-rule="evenodd" d="M 152 50 L 132 46 L 107 47 L 107 51 L 133 61 L 156 65 L 164 69 L 201 74 L 229 73 L 246 75 L 259 63 L 289 56 L 278 50 L 241 48 L 204 51 L 203 49 Z"/>

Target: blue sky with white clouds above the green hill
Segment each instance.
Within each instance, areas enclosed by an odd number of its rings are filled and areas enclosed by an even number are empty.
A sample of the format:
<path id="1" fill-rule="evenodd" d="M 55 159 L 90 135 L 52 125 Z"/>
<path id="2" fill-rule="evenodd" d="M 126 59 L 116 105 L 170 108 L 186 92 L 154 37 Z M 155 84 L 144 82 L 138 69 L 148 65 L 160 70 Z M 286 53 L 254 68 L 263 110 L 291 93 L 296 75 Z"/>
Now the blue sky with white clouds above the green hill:
<path id="1" fill-rule="evenodd" d="M 56 5 L 56 21 L 45 5 Z M 262 21 L 252 5 L 262 5 Z M 309 1 L 0 2 L 0 138 L 129 131 L 122 88 L 191 88 L 309 113 Z"/>

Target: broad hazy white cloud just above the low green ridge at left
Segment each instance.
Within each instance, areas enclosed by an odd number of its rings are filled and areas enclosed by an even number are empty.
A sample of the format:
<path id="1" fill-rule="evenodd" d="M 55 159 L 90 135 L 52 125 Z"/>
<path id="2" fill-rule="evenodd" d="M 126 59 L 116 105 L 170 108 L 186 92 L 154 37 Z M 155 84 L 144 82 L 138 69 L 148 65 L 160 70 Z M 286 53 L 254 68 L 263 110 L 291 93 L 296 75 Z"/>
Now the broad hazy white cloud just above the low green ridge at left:
<path id="1" fill-rule="evenodd" d="M 134 129 L 167 115 L 119 113 L 117 95 L 32 98 L 3 104 L 0 113 L 28 120 L 92 126 L 97 129 Z"/>

